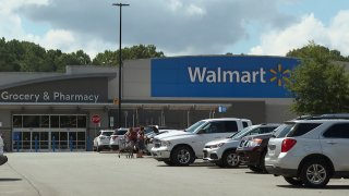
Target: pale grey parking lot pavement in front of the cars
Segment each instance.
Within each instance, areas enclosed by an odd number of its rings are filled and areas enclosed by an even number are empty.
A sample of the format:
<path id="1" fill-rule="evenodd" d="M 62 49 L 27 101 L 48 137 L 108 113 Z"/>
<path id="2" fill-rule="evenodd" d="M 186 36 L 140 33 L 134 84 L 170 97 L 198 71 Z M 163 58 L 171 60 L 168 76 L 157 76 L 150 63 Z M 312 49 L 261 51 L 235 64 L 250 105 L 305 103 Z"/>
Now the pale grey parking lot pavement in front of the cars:
<path id="1" fill-rule="evenodd" d="M 324 189 L 297 188 L 282 177 L 246 168 L 219 169 L 196 161 L 168 167 L 151 157 L 118 158 L 113 152 L 13 152 L 0 167 L 0 195 L 348 195 L 348 180 Z"/>

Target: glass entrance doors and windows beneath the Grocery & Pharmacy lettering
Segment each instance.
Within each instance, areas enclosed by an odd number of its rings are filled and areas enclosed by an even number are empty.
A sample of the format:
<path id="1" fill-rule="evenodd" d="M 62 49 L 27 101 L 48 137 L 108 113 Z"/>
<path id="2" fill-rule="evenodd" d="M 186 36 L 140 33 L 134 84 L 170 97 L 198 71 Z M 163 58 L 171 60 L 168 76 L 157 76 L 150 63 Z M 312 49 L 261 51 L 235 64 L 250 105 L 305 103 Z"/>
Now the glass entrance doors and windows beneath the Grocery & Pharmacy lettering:
<path id="1" fill-rule="evenodd" d="M 13 114 L 13 151 L 86 150 L 86 114 Z"/>

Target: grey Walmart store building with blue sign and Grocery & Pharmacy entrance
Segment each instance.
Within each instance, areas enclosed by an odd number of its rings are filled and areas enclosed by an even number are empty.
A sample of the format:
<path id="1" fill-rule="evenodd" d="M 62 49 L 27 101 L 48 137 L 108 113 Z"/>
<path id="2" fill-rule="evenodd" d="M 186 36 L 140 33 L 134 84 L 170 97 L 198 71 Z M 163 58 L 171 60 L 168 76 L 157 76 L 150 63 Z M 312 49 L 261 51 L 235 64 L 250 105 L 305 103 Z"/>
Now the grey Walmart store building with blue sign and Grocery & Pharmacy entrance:
<path id="1" fill-rule="evenodd" d="M 196 56 L 125 61 L 122 126 L 184 128 L 207 118 L 253 123 L 294 117 L 284 85 L 297 59 Z M 118 69 L 67 66 L 65 73 L 0 73 L 0 132 L 8 151 L 92 150 L 116 128 Z M 93 115 L 100 117 L 94 124 Z"/>

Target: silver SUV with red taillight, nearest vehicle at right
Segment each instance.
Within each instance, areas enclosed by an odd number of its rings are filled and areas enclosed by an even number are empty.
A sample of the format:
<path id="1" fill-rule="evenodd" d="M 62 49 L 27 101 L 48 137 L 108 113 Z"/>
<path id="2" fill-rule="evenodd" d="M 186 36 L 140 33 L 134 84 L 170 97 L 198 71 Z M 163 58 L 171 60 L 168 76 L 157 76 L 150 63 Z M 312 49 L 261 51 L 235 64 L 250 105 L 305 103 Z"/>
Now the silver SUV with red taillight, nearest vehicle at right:
<path id="1" fill-rule="evenodd" d="M 348 119 L 294 120 L 282 128 L 287 134 L 268 142 L 268 173 L 308 187 L 323 187 L 329 179 L 349 177 Z"/>

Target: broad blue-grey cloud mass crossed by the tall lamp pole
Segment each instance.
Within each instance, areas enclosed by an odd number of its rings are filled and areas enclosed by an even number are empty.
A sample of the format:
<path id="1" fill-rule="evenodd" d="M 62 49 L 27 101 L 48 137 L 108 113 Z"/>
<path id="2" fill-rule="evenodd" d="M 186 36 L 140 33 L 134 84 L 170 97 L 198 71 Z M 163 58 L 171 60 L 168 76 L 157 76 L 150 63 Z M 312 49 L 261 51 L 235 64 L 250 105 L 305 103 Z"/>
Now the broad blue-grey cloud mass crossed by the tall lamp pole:
<path id="1" fill-rule="evenodd" d="M 125 46 L 152 44 L 168 53 L 217 54 L 228 46 L 246 38 L 241 21 L 263 22 L 267 26 L 285 26 L 293 16 L 269 4 L 251 5 L 260 0 L 148 0 L 125 9 L 122 20 L 122 42 Z M 276 0 L 270 0 L 274 4 Z M 94 10 L 94 12 L 91 12 Z M 86 50 L 86 42 L 118 42 L 118 16 L 110 3 L 85 0 L 51 0 L 46 7 L 26 7 L 21 16 L 35 25 L 69 30 L 75 37 L 71 45 Z M 268 14 L 265 14 L 268 13 Z M 26 21 L 25 21 L 26 22 Z M 43 36 L 43 35 L 41 35 Z M 82 40 L 81 37 L 85 39 Z M 100 41 L 101 40 L 101 41 Z M 104 51 L 108 45 L 101 50 Z M 113 48 L 113 47 L 112 47 Z M 65 51 L 64 48 L 60 48 Z"/>

